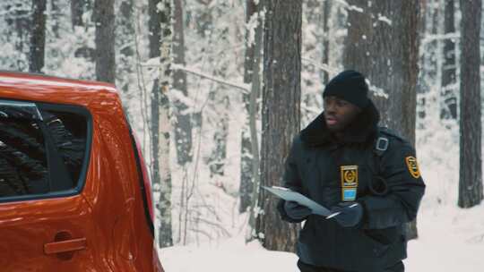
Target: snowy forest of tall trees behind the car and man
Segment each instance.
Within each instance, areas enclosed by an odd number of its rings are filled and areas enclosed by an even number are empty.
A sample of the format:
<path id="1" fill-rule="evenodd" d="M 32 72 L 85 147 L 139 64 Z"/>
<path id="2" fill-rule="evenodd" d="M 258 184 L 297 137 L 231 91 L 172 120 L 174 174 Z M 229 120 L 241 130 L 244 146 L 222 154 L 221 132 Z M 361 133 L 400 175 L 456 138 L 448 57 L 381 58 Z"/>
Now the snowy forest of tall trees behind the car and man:
<path id="1" fill-rule="evenodd" d="M 293 251 L 298 226 L 258 188 L 281 184 L 328 79 L 359 70 L 382 124 L 417 148 L 428 191 L 408 225 L 415 251 L 456 258 L 436 239 L 454 233 L 467 255 L 457 262 L 477 271 L 482 260 L 465 258 L 484 253 L 481 10 L 480 0 L 4 0 L 0 69 L 116 84 L 150 166 L 169 271 L 183 270 L 175 252 L 227 241 Z"/>

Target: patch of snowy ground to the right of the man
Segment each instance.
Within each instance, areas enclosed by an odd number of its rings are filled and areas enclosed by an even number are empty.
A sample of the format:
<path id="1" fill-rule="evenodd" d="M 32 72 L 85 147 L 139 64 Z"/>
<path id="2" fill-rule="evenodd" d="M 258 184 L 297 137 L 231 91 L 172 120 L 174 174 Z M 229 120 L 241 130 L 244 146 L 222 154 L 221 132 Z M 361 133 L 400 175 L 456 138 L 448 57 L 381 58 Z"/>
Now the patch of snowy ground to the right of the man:
<path id="1" fill-rule="evenodd" d="M 484 205 L 422 210 L 419 240 L 409 243 L 407 271 L 483 271 L 483 215 Z"/>

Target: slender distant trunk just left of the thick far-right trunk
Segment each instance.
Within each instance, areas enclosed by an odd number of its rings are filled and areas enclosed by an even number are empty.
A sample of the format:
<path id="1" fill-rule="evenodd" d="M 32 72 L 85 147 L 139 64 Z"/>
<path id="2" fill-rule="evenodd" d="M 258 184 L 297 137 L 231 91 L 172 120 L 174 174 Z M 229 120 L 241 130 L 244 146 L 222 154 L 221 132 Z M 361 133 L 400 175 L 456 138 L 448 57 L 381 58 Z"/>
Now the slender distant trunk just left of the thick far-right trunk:
<path id="1" fill-rule="evenodd" d="M 445 0 L 444 6 L 444 34 L 454 35 L 454 0 Z M 457 118 L 457 98 L 455 98 L 455 38 L 444 39 L 444 64 L 442 65 L 442 78 L 440 92 L 441 110 L 440 118 L 456 119 Z"/>

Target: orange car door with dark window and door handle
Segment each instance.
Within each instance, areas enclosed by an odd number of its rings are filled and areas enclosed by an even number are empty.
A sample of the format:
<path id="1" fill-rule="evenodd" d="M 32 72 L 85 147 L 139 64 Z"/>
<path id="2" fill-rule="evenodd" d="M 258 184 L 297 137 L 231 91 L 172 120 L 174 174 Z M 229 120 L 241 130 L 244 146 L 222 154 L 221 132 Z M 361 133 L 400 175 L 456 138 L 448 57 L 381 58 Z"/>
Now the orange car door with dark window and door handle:
<path id="1" fill-rule="evenodd" d="M 82 196 L 91 115 L 0 98 L 0 270 L 110 271 Z"/>

